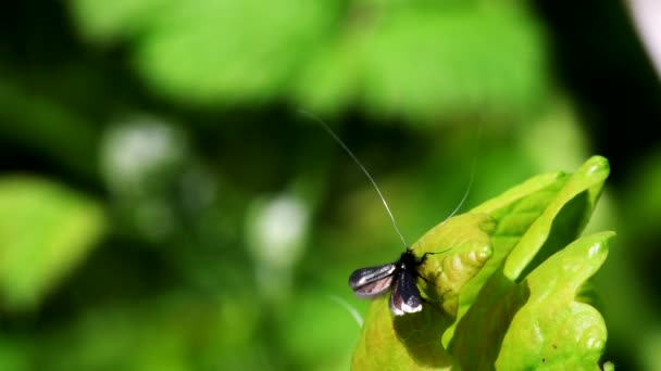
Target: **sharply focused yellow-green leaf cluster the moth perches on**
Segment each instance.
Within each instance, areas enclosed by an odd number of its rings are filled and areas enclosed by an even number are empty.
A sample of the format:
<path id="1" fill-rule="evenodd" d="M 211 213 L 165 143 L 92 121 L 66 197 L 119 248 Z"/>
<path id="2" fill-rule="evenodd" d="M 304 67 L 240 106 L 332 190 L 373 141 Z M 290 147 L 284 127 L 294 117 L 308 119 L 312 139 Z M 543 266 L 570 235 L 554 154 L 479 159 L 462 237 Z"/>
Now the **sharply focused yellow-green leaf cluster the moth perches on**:
<path id="1" fill-rule="evenodd" d="M 433 283 L 421 283 L 425 310 L 394 317 L 387 298 L 374 300 L 353 369 L 598 369 L 606 325 L 577 295 L 613 233 L 575 239 L 608 174 L 608 162 L 593 157 L 573 175 L 535 177 L 424 234 L 412 246 L 419 255 L 451 248 L 421 268 Z"/>

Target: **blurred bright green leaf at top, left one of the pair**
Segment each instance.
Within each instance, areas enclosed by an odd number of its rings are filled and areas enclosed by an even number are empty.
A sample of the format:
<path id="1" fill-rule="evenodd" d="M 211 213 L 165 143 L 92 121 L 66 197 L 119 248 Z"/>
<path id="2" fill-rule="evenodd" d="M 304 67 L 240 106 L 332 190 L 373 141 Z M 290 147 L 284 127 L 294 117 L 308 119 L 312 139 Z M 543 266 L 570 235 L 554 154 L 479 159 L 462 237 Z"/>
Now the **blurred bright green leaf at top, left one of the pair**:
<path id="1" fill-rule="evenodd" d="M 328 2 L 303 0 L 80 0 L 73 7 L 92 36 L 139 29 L 129 39 L 149 85 L 202 104 L 283 95 L 334 17 Z"/>

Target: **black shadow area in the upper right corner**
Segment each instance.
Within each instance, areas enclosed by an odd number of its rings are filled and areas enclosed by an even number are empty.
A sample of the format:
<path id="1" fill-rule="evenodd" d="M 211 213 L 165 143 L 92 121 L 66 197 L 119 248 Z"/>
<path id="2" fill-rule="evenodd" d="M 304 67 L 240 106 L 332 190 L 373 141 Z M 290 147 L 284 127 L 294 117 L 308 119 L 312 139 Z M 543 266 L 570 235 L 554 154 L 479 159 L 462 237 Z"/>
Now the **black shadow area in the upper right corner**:
<path id="1" fill-rule="evenodd" d="M 611 182 L 626 181 L 627 164 L 659 143 L 661 85 L 636 34 L 626 1 L 538 0 L 549 29 L 558 82 L 577 103 L 595 151 L 614 169 Z"/>

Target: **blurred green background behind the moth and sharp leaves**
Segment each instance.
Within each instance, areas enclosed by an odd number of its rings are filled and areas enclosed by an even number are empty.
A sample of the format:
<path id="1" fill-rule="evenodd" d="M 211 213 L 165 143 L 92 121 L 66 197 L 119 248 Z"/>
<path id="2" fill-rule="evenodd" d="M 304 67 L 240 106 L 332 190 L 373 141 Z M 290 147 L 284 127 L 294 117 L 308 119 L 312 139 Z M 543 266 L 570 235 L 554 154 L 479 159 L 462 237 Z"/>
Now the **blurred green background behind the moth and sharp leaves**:
<path id="1" fill-rule="evenodd" d="M 542 171 L 619 369 L 661 369 L 661 86 L 624 3 L 25 0 L 0 14 L 0 370 L 345 370 L 349 273 Z M 482 126 L 482 130 L 478 128 Z"/>

